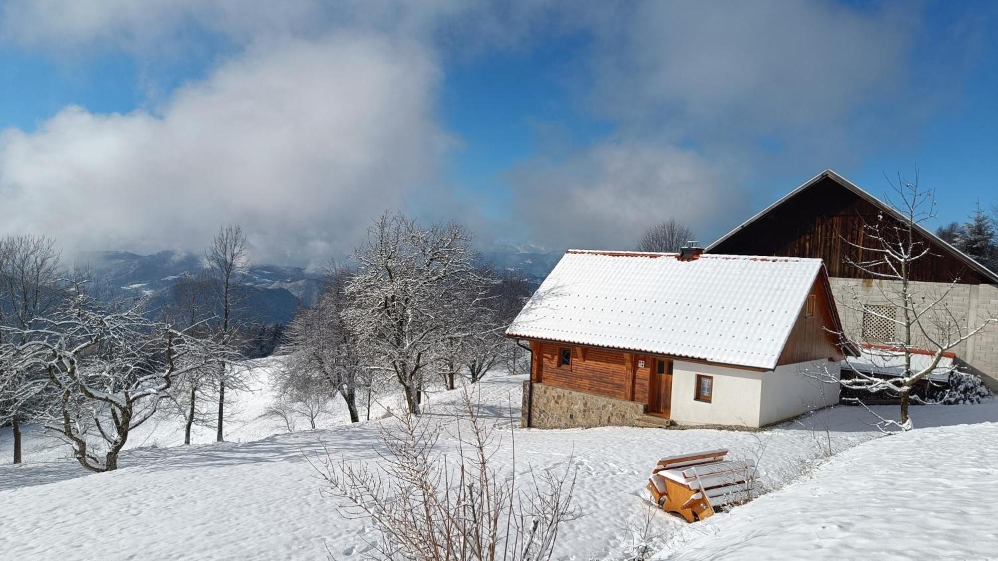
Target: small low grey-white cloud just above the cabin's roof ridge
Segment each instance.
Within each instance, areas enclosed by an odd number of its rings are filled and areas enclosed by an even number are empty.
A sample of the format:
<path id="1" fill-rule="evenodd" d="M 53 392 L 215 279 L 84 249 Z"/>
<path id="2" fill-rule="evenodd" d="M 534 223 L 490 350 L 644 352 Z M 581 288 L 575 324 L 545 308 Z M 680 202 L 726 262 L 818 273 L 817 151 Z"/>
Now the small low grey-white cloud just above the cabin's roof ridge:
<path id="1" fill-rule="evenodd" d="M 689 150 L 606 141 L 518 170 L 516 212 L 535 240 L 556 249 L 633 249 L 670 218 L 710 231 L 743 199 L 732 172 Z"/>

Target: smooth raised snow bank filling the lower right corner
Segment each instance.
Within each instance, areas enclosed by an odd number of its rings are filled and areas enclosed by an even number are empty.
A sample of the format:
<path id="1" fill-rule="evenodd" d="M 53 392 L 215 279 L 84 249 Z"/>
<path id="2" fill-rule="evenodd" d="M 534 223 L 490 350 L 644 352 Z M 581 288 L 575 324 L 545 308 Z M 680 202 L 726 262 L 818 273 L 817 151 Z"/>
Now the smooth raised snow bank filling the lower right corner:
<path id="1" fill-rule="evenodd" d="M 996 443 L 995 422 L 864 443 L 811 478 L 691 527 L 659 556 L 995 559 Z"/>

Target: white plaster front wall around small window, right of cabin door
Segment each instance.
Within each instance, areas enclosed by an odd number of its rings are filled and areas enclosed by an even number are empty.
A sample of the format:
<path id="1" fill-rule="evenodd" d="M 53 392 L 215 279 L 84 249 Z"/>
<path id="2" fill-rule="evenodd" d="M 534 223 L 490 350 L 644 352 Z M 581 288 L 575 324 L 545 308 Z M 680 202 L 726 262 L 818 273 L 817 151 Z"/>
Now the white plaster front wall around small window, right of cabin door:
<path id="1" fill-rule="evenodd" d="M 683 424 L 729 424 L 759 426 L 762 377 L 754 372 L 677 360 L 673 365 L 673 396 L 670 417 Z M 697 374 L 714 376 L 710 403 L 697 401 Z"/>

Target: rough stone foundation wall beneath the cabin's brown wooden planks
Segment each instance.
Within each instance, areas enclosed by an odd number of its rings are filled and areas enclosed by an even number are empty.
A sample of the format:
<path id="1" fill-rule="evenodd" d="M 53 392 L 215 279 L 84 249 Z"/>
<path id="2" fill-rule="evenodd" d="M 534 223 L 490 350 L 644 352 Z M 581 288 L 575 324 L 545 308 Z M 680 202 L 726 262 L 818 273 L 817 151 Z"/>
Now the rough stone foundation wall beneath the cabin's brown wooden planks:
<path id="1" fill-rule="evenodd" d="M 521 419 L 523 426 L 527 426 L 527 414 L 531 408 L 530 399 L 530 380 L 525 380 Z M 530 426 L 534 428 L 634 426 L 635 420 L 644 414 L 644 403 L 534 383 Z"/>

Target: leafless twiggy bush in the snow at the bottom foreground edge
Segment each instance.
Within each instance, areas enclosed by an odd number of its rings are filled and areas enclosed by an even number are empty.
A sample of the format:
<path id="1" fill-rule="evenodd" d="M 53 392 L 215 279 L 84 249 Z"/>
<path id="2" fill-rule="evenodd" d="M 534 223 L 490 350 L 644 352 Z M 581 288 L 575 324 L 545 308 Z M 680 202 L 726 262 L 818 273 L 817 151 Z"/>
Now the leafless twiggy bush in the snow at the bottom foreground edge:
<path id="1" fill-rule="evenodd" d="M 571 461 L 561 475 L 500 473 L 492 463 L 495 435 L 467 390 L 457 416 L 451 433 L 457 450 L 450 454 L 439 442 L 441 425 L 406 409 L 397 423 L 379 427 L 386 452 L 374 467 L 333 458 L 328 450 L 312 466 L 340 512 L 369 520 L 381 535 L 366 554 L 370 559 L 551 559 L 559 525 L 581 515 L 572 498 Z"/>

